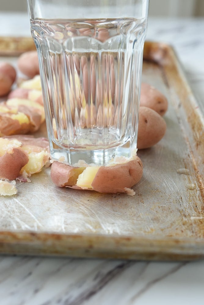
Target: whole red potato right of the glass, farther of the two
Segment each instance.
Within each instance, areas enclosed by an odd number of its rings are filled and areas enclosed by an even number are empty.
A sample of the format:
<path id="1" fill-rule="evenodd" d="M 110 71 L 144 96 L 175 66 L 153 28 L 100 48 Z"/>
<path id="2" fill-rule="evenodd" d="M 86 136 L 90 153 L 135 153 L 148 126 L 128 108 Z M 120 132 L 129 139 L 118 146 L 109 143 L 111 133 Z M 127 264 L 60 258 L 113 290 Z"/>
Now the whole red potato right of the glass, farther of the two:
<path id="1" fill-rule="evenodd" d="M 142 83 L 140 106 L 151 108 L 163 116 L 168 108 L 168 101 L 166 97 L 155 87 L 147 83 Z"/>

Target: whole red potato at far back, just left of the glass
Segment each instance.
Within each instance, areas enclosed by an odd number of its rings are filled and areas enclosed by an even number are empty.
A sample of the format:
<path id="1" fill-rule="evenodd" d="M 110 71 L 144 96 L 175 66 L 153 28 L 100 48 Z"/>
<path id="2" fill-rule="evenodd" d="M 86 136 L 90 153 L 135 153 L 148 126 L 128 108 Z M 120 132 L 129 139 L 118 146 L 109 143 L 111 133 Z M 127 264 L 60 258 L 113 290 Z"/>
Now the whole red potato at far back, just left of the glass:
<path id="1" fill-rule="evenodd" d="M 18 58 L 18 68 L 26 76 L 33 78 L 40 73 L 37 51 L 28 51 Z"/>

